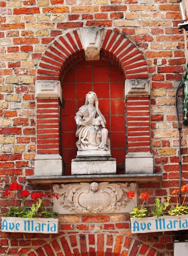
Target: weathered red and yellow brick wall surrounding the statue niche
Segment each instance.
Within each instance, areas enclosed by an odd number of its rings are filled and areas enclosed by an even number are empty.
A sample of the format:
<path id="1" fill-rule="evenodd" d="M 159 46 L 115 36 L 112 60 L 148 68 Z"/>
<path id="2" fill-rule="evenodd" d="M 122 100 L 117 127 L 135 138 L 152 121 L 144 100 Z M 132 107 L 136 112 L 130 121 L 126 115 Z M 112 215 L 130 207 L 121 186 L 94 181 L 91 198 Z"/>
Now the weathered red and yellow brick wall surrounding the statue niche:
<path id="1" fill-rule="evenodd" d="M 180 22 L 176 0 L 153 0 L 150 4 L 144 0 L 0 1 L 1 213 L 9 206 L 3 191 L 11 182 L 17 181 L 31 192 L 48 193 L 51 189 L 50 186 L 31 186 L 26 183 L 26 177 L 34 173 L 36 128 L 41 129 L 44 135 L 42 130 L 45 122 L 38 122 L 36 127 L 36 116 L 45 113 L 46 108 L 51 109 L 48 104 L 57 103 L 45 102 L 43 106 L 43 102 L 38 102 L 40 110 L 37 110 L 34 82 L 37 70 L 41 68 L 39 64 L 43 53 L 54 39 L 66 32 L 66 29 L 82 26 L 104 26 L 127 35 L 145 56 L 152 89 L 151 150 L 155 172 L 163 173 L 163 181 L 140 183 L 138 192 L 147 191 L 151 195 L 148 199 L 148 207 L 151 207 L 156 196 L 163 199 L 171 195 L 174 188 L 178 188 L 178 131 L 174 95 L 187 58 L 187 41 L 184 41 L 187 39 L 179 34 L 177 28 Z M 178 102 L 181 102 L 180 92 Z M 56 107 L 52 107 L 54 112 L 51 114 L 56 114 Z M 181 111 L 179 119 L 182 122 Z M 57 129 L 57 123 L 53 125 L 53 129 Z M 182 124 L 181 127 L 184 185 L 188 182 L 187 127 Z M 37 150 L 42 151 L 43 138 L 39 139 L 41 141 L 38 142 Z M 55 135 L 52 139 L 55 140 Z M 50 150 L 58 150 L 55 144 L 59 144 L 59 140 L 53 143 L 55 148 Z M 11 192 L 12 203 L 14 196 L 14 192 Z M 175 202 L 173 196 L 171 201 Z M 19 198 L 17 204 L 20 204 Z M 27 205 L 31 204 L 32 201 L 28 199 Z M 48 204 L 46 200 L 46 206 Z M 2 256 L 69 256 L 71 253 L 93 256 L 97 251 L 100 256 L 110 256 L 112 253 L 121 256 L 166 256 L 173 255 L 174 239 L 187 239 L 184 232 L 180 232 L 179 236 L 177 232 L 133 236 L 127 215 L 101 215 L 97 218 L 63 216 L 60 221 L 61 233 L 52 237 L 0 233 L 0 253 Z M 105 250 L 106 254 L 103 253 Z M 86 254 L 86 251 L 89 253 Z"/>

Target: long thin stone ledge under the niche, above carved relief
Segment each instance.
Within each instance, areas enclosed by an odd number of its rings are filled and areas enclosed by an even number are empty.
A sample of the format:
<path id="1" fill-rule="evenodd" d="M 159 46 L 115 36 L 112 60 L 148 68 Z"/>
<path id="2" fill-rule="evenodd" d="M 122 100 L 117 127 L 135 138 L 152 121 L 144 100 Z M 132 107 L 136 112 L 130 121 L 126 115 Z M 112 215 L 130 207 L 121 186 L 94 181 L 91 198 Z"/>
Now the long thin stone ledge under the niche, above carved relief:
<path id="1" fill-rule="evenodd" d="M 74 175 L 74 176 L 31 176 L 27 178 L 31 184 L 53 184 L 70 182 L 92 182 L 92 181 L 136 181 L 136 182 L 160 182 L 162 174 L 127 174 L 127 175 Z"/>

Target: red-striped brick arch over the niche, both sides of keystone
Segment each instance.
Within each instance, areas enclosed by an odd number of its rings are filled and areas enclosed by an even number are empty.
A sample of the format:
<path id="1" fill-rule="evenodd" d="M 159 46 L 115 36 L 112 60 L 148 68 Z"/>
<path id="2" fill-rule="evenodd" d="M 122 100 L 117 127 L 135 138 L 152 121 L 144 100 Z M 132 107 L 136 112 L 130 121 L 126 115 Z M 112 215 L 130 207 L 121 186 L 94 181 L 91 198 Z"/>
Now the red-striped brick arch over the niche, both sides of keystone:
<path id="1" fill-rule="evenodd" d="M 114 30 L 104 29 L 101 57 L 116 64 L 125 79 L 148 78 L 147 63 L 142 52 L 127 36 Z M 61 81 L 68 67 L 83 58 L 80 30 L 71 30 L 57 38 L 44 52 L 37 79 Z"/>

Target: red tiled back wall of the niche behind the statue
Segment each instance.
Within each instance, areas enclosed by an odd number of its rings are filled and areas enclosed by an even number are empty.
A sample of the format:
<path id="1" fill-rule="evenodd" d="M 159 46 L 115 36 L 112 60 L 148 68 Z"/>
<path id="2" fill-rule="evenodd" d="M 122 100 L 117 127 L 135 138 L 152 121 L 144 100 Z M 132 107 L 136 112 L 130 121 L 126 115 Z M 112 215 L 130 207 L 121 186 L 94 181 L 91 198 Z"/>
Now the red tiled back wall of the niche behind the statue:
<path id="1" fill-rule="evenodd" d="M 111 154 L 117 161 L 117 174 L 125 168 L 125 78 L 118 67 L 109 61 L 78 61 L 63 78 L 62 155 L 65 175 L 71 175 L 71 160 L 76 157 L 75 113 L 84 105 L 89 91 L 97 93 L 100 111 L 107 121 L 108 137 L 111 140 Z"/>

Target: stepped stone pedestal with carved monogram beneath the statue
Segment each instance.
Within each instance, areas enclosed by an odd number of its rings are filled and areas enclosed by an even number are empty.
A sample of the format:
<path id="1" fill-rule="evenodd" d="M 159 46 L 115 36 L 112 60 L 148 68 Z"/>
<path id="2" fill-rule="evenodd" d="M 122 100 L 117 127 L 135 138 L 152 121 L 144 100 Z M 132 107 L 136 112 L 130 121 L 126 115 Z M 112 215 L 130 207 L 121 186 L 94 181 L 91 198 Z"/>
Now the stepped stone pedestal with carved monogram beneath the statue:
<path id="1" fill-rule="evenodd" d="M 111 151 L 77 151 L 71 163 L 71 175 L 116 174 L 116 160 Z"/>

